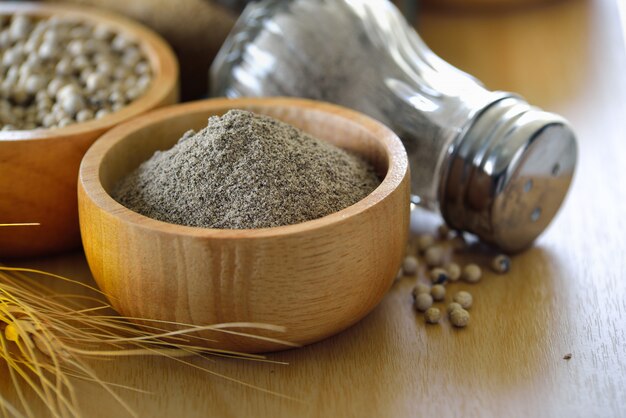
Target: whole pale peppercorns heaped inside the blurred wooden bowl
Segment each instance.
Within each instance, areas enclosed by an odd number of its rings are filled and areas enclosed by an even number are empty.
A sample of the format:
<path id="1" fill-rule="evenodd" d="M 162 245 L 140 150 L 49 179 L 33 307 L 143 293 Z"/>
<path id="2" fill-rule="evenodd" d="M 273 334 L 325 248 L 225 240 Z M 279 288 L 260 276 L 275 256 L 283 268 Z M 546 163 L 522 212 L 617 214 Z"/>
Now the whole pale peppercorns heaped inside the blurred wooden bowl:
<path id="1" fill-rule="evenodd" d="M 113 73 L 118 82 L 109 89 Z M 106 25 L 58 16 L 36 21 L 22 14 L 0 16 L 3 130 L 101 118 L 141 97 L 151 81 L 139 45 Z M 59 94 L 68 85 L 73 87 Z"/>

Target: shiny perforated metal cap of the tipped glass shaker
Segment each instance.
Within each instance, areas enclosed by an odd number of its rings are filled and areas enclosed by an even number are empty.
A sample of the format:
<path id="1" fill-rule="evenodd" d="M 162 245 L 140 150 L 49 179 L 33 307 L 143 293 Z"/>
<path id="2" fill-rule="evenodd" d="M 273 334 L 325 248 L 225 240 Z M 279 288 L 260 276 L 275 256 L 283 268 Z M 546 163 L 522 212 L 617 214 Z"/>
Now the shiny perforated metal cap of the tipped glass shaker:
<path id="1" fill-rule="evenodd" d="M 446 222 L 517 252 L 557 213 L 577 147 L 567 121 L 509 96 L 477 114 L 449 153 L 439 190 Z"/>

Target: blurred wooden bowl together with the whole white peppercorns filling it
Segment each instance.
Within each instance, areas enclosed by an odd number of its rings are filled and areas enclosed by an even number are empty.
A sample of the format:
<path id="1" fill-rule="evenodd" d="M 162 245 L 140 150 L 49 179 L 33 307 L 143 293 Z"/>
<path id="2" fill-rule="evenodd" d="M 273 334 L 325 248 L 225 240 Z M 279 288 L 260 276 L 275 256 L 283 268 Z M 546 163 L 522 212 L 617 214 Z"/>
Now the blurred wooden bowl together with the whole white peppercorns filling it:
<path id="1" fill-rule="evenodd" d="M 83 154 L 104 132 L 178 100 L 158 35 L 90 8 L 0 3 L 0 257 L 80 245 Z"/>

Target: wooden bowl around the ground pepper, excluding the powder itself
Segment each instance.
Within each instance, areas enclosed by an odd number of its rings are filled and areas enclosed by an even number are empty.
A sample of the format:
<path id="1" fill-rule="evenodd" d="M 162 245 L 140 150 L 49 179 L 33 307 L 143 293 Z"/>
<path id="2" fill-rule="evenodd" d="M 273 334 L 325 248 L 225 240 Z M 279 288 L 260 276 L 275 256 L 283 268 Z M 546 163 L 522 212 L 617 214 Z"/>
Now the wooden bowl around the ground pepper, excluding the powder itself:
<path id="1" fill-rule="evenodd" d="M 358 153 L 384 180 L 334 214 L 248 230 L 160 222 L 109 195 L 155 151 L 233 108 L 272 116 Z M 389 289 L 407 240 L 409 169 L 397 136 L 354 111 L 291 98 L 212 99 L 156 110 L 103 135 L 83 159 L 78 203 L 87 261 L 121 314 L 195 325 L 268 323 L 287 331 L 260 335 L 307 344 L 357 322 Z M 217 340 L 204 344 L 239 351 L 285 348 L 202 335 Z"/>

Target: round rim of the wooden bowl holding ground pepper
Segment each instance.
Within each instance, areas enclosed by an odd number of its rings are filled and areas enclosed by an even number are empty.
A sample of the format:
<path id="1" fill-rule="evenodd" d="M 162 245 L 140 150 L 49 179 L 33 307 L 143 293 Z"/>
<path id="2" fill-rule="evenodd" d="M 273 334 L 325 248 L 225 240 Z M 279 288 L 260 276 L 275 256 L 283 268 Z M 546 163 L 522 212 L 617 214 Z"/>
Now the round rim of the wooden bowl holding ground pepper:
<path id="1" fill-rule="evenodd" d="M 128 135 L 151 125 L 155 120 L 162 122 L 163 119 L 174 119 L 189 112 L 196 111 L 209 112 L 216 109 L 251 107 L 297 107 L 305 111 L 330 113 L 364 127 L 367 131 L 372 133 L 373 137 L 376 138 L 385 149 L 388 166 L 385 178 L 381 184 L 365 198 L 338 212 L 297 224 L 258 229 L 201 228 L 159 221 L 141 215 L 123 206 L 113 199 L 102 186 L 100 182 L 100 166 L 109 150 L 124 141 Z M 398 136 L 382 123 L 359 112 L 330 103 L 299 98 L 215 98 L 176 104 L 153 110 L 108 131 L 99 138 L 85 154 L 79 171 L 79 187 L 83 188 L 84 194 L 91 199 L 100 210 L 119 219 L 123 223 L 130 223 L 138 227 L 159 231 L 165 234 L 184 235 L 196 238 L 268 238 L 310 231 L 344 221 L 353 216 L 358 216 L 387 199 L 408 175 L 409 165 L 406 151 Z M 408 204 L 409 202 L 407 202 L 407 205 Z"/>

